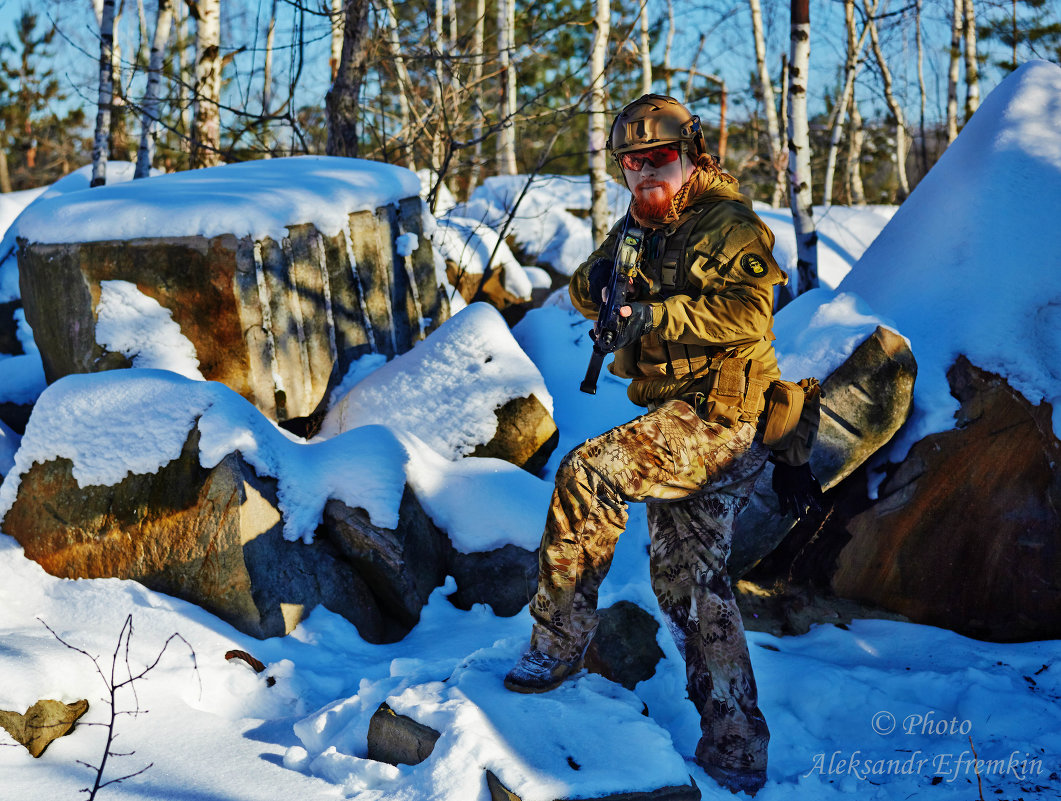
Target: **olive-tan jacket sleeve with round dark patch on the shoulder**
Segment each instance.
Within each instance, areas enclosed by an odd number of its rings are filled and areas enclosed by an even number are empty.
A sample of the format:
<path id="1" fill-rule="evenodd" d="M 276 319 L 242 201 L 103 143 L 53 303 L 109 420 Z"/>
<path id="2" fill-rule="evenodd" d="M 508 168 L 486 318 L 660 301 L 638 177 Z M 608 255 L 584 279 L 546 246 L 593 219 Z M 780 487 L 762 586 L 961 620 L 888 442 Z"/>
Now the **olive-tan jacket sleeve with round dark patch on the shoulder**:
<path id="1" fill-rule="evenodd" d="M 773 288 L 786 280 L 771 255 L 772 240 L 765 226 L 741 222 L 716 241 L 691 243 L 690 284 L 700 291 L 654 304 L 660 338 L 730 346 L 769 336 Z"/>

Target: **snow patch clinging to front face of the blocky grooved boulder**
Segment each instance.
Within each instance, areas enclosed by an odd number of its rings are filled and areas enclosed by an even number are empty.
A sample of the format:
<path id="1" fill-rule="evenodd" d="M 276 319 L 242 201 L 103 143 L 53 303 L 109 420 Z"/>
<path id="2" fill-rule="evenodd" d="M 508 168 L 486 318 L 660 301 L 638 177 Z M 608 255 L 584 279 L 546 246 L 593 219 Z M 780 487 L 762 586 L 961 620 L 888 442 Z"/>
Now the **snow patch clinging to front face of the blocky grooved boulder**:
<path id="1" fill-rule="evenodd" d="M 195 346 L 180 333 L 173 312 L 128 281 L 100 281 L 95 341 L 124 353 L 134 367 L 171 370 L 203 381 Z"/>

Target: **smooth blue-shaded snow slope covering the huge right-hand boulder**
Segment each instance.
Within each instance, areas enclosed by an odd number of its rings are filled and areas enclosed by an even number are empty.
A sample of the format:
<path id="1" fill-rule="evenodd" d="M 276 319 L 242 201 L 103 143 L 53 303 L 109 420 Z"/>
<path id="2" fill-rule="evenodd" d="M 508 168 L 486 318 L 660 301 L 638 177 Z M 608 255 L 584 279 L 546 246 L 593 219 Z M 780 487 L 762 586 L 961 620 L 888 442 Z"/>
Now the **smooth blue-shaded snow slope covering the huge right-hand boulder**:
<path id="1" fill-rule="evenodd" d="M 909 447 L 954 425 L 959 354 L 1054 408 L 1061 433 L 1061 66 L 984 101 L 838 289 L 894 320 L 918 360 Z"/>

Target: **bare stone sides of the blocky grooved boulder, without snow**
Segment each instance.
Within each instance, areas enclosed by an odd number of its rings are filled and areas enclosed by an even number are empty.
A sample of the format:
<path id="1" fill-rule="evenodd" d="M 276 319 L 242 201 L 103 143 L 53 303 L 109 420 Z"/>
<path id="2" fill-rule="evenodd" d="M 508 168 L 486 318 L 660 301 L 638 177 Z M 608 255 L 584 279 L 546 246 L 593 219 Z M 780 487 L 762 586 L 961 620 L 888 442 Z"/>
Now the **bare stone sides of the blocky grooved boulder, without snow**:
<path id="1" fill-rule="evenodd" d="M 203 377 L 277 421 L 313 415 L 353 361 L 404 352 L 449 316 L 419 197 L 350 214 L 336 236 L 312 224 L 288 229 L 279 242 L 20 239 L 22 301 L 48 380 L 129 365 L 98 342 L 101 281 L 134 283 L 169 310 Z M 400 232 L 419 238 L 408 256 Z"/>

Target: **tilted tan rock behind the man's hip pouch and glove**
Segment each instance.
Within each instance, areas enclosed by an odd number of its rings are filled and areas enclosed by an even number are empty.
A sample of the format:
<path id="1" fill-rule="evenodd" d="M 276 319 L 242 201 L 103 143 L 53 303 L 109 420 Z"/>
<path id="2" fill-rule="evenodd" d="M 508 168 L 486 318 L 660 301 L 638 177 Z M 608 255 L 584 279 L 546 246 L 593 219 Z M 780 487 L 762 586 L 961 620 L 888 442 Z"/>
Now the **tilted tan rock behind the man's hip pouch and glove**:
<path id="1" fill-rule="evenodd" d="M 851 475 L 906 422 L 914 403 L 917 362 L 906 339 L 883 327 L 868 336 L 822 382 L 821 426 L 811 467 L 822 489 Z M 770 487 L 773 466 L 737 518 L 730 574 L 742 576 L 769 554 L 792 529 Z"/>

